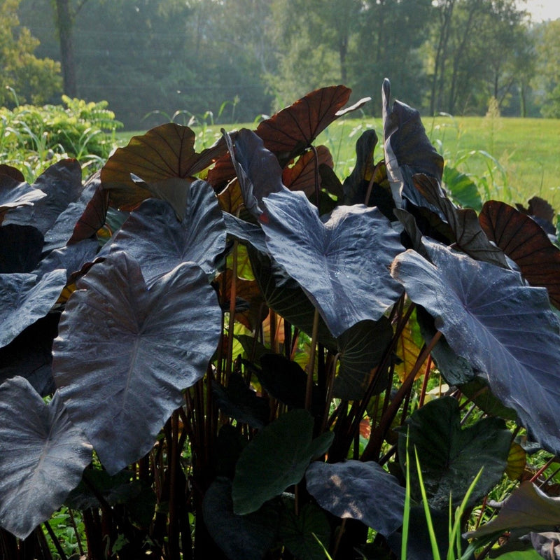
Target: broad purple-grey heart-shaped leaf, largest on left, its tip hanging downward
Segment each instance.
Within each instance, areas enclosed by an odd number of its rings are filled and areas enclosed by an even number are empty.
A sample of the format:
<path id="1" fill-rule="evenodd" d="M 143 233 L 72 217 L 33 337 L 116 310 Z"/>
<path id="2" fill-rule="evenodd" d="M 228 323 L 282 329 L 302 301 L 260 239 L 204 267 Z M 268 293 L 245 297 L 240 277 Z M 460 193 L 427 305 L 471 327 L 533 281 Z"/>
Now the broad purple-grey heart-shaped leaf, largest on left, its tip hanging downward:
<path id="1" fill-rule="evenodd" d="M 186 263 L 151 288 L 115 253 L 78 282 L 53 346 L 53 374 L 68 412 L 110 474 L 151 449 L 206 371 L 221 311 L 202 269 Z"/>

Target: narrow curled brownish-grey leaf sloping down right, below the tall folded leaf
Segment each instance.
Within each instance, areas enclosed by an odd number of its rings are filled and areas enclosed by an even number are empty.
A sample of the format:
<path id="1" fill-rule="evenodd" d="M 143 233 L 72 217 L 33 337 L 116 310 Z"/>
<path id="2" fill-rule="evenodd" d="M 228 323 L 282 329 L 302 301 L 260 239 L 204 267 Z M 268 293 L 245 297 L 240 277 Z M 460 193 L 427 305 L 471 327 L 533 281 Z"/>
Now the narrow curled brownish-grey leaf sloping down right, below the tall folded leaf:
<path id="1" fill-rule="evenodd" d="M 500 267 L 507 267 L 505 255 L 500 247 L 490 243 L 486 233 L 480 227 L 477 214 L 472 209 L 457 208 L 444 194 L 439 183 L 433 177 L 416 174 L 412 182 L 419 193 L 436 207 L 455 236 L 455 244 L 472 258 L 486 260 Z"/>

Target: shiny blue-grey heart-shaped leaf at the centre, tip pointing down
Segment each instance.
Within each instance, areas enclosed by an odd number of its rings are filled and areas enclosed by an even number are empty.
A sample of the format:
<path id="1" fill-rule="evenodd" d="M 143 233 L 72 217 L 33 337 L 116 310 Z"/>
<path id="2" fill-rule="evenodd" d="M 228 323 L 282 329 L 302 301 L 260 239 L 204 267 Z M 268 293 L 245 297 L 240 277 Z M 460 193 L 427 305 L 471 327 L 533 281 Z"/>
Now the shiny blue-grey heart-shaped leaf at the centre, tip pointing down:
<path id="1" fill-rule="evenodd" d="M 377 321 L 402 290 L 388 266 L 402 251 L 377 208 L 337 207 L 321 221 L 304 193 L 263 199 L 260 218 L 274 258 L 305 290 L 335 337 L 359 321 Z"/>

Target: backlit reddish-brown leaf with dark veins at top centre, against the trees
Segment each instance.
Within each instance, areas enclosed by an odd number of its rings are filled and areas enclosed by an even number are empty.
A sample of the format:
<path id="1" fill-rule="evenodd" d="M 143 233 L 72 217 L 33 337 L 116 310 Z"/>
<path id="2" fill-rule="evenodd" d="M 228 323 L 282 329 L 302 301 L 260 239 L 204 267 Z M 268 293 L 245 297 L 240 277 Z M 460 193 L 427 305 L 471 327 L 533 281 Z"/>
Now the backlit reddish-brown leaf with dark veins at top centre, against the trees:
<path id="1" fill-rule="evenodd" d="M 339 111 L 348 102 L 350 94 L 351 90 L 344 85 L 322 87 L 263 120 L 256 132 L 265 142 L 265 148 L 276 155 L 280 165 L 286 165 L 304 153 L 314 139 L 342 114 Z"/>

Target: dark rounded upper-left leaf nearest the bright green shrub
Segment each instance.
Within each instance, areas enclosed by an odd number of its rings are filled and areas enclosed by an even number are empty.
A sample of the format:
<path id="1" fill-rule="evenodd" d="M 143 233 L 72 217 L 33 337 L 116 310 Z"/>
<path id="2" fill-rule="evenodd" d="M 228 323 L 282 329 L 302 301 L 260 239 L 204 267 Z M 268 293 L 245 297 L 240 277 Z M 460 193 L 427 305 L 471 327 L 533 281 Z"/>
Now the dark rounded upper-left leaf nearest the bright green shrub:
<path id="1" fill-rule="evenodd" d="M 20 207 L 6 216 L 6 223 L 34 225 L 43 235 L 52 228 L 59 214 L 78 200 L 82 190 L 82 169 L 76 160 L 61 160 L 45 169 L 33 187 L 47 196 L 32 207 Z"/>

